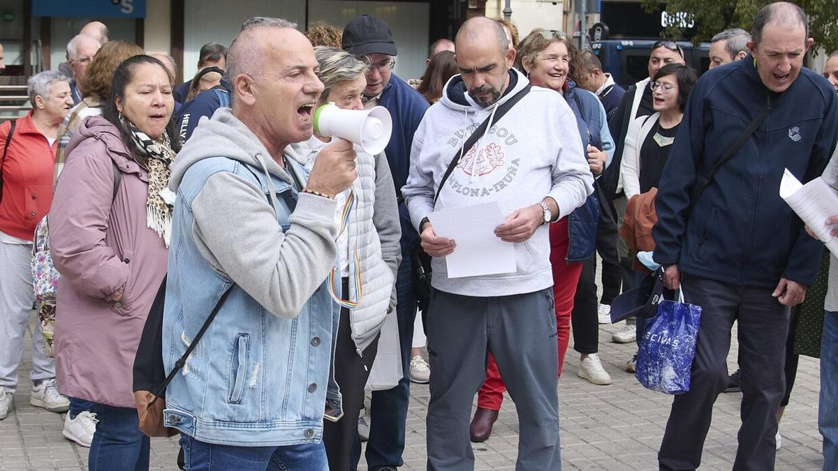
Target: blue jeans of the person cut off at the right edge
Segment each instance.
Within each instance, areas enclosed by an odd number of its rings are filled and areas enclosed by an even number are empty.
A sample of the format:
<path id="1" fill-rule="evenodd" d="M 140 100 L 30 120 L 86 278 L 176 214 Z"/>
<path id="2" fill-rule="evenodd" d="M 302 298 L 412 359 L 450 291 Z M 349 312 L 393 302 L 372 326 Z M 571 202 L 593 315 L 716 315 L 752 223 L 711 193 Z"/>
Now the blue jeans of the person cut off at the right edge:
<path id="1" fill-rule="evenodd" d="M 818 428 L 824 437 L 824 471 L 838 469 L 838 313 L 829 311 L 820 340 Z"/>

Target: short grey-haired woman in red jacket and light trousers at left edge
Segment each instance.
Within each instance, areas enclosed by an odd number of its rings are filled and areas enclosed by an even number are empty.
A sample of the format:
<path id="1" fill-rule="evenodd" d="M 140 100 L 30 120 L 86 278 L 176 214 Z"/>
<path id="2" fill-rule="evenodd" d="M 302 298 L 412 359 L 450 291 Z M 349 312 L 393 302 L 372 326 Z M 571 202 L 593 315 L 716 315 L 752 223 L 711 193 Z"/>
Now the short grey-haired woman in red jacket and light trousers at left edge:
<path id="1" fill-rule="evenodd" d="M 14 406 L 23 335 L 34 301 L 29 253 L 35 225 L 53 199 L 58 127 L 73 106 L 69 79 L 58 71 L 46 70 L 29 78 L 28 94 L 32 111 L 0 125 L 0 420 Z M 45 355 L 41 324 L 36 326 L 29 403 L 63 412 L 70 402 L 56 389 L 55 361 Z"/>

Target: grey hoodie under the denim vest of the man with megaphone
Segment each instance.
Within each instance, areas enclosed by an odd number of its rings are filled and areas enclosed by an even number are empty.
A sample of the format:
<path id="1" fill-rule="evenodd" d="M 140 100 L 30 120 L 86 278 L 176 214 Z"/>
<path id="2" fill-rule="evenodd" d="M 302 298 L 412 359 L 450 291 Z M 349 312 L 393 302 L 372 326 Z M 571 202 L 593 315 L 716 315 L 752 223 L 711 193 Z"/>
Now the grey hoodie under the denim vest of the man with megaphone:
<path id="1" fill-rule="evenodd" d="M 201 121 L 178 153 L 169 188 L 177 193 L 194 163 L 216 157 L 248 163 L 261 168 L 265 175 L 292 183 L 292 176 L 271 158 L 230 108 L 219 108 L 212 119 Z M 300 161 L 290 147 L 284 157 Z M 303 186 L 308 176 L 300 174 L 296 178 Z M 266 180 L 272 185 L 270 178 Z M 274 315 L 291 318 L 334 267 L 335 202 L 298 194 L 290 227 L 283 230 L 273 209 L 277 204 L 273 191 L 270 198 L 233 173 L 213 173 L 192 200 L 192 237 L 216 272 L 230 277 Z"/>

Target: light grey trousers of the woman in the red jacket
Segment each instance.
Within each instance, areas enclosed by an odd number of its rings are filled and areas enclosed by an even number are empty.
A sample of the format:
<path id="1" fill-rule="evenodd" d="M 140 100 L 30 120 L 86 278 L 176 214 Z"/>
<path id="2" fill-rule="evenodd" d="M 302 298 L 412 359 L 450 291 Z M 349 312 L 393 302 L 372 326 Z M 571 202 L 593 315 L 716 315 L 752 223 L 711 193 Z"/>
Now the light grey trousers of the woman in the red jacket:
<path id="1" fill-rule="evenodd" d="M 32 245 L 0 242 L 0 387 L 18 387 L 18 365 L 23 360 L 23 335 L 29 328 L 32 302 Z M 41 323 L 30 332 L 33 339 L 31 380 L 55 377 L 55 360 L 44 355 Z"/>

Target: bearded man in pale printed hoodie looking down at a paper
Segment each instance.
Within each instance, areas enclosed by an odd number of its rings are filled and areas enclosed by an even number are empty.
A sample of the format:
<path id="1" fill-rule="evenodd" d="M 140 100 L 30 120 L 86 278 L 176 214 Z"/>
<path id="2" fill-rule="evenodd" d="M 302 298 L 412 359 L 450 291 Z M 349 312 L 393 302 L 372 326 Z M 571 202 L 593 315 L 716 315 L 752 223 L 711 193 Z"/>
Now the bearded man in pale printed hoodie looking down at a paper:
<path id="1" fill-rule="evenodd" d="M 576 118 L 556 91 L 532 87 L 507 114 L 494 119 L 497 108 L 528 85 L 512 69 L 515 50 L 508 48 L 499 23 L 469 19 L 455 44 L 461 74 L 448 81 L 442 99 L 416 129 L 410 176 L 402 189 L 422 247 L 433 257 L 427 316 L 428 469 L 473 468 L 469 406 L 483 384 L 489 353 L 518 409 L 516 468 L 558 469 L 558 355 L 546 223 L 584 203 L 593 191 L 593 175 Z M 485 120 L 488 132 L 464 148 Z M 455 157 L 460 163 L 434 204 L 442 175 Z M 457 251 L 457 241 L 437 236 L 427 215 L 491 201 L 504 214 L 494 235 L 513 245 L 515 272 L 449 278 L 445 256 Z"/>

